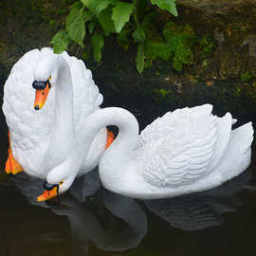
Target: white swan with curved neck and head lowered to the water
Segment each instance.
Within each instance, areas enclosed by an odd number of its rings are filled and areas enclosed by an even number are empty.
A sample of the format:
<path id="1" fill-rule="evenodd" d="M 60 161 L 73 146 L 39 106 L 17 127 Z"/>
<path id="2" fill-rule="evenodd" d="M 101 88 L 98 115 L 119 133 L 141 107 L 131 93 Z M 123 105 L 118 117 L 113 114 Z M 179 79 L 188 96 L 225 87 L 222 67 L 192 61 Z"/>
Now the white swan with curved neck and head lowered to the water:
<path id="1" fill-rule="evenodd" d="M 218 118 L 211 110 L 210 104 L 176 109 L 155 119 L 139 136 L 137 119 L 127 110 L 97 110 L 86 119 L 82 149 L 53 169 L 47 182 L 55 184 L 74 175 L 70 167 L 82 159 L 75 155 L 88 152 L 102 127 L 116 125 L 119 135 L 101 155 L 99 164 L 107 190 L 154 199 L 217 187 L 247 169 L 253 128 L 248 122 L 231 130 L 235 122 L 231 115 Z M 66 189 L 62 186 L 60 192 Z"/>

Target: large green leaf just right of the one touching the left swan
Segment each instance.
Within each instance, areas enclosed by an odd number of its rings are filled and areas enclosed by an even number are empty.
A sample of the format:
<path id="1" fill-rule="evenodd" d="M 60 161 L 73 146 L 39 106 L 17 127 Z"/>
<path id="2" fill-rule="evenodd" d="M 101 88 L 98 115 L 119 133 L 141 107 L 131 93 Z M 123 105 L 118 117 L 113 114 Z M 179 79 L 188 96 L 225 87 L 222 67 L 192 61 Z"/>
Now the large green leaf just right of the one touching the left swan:
<path id="1" fill-rule="evenodd" d="M 85 36 L 85 24 L 83 21 L 83 8 L 71 9 L 66 17 L 66 30 L 68 36 L 80 46 L 83 46 L 82 41 Z"/>

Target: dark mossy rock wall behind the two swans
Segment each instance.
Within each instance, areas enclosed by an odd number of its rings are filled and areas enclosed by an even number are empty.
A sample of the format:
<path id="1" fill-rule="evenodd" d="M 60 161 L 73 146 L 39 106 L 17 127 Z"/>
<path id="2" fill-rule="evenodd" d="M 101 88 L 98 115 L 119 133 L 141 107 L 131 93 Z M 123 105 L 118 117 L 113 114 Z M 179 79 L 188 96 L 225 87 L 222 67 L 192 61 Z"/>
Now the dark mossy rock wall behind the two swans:
<path id="1" fill-rule="evenodd" d="M 1 85 L 25 52 L 50 46 L 55 32 L 64 27 L 68 9 L 63 1 L 34 2 L 44 5 L 0 2 Z M 100 64 L 93 58 L 84 61 L 104 95 L 104 106 L 130 109 L 141 128 L 143 120 L 148 123 L 168 110 L 204 102 L 214 104 L 219 115 L 230 111 L 244 121 L 256 120 L 256 8 L 254 1 L 240 2 L 180 0 L 179 16 L 166 14 L 177 26 L 191 26 L 197 37 L 192 63 L 182 72 L 174 70 L 172 61 L 156 60 L 139 75 L 136 47 L 124 52 L 114 38 L 106 40 Z M 77 46 L 69 53 L 82 58 Z"/>

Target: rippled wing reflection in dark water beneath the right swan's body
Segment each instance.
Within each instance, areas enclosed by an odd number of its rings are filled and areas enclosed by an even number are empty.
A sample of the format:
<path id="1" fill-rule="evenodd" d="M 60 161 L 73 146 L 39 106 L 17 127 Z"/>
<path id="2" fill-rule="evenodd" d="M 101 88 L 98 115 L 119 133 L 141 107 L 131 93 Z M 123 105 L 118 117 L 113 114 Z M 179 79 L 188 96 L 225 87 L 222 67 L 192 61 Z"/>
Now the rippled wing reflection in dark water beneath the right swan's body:
<path id="1" fill-rule="evenodd" d="M 172 227 L 187 231 L 219 226 L 224 223 L 222 213 L 236 211 L 242 206 L 236 192 L 251 178 L 249 170 L 207 192 L 174 198 L 144 201 L 149 210 L 166 220 Z"/>

